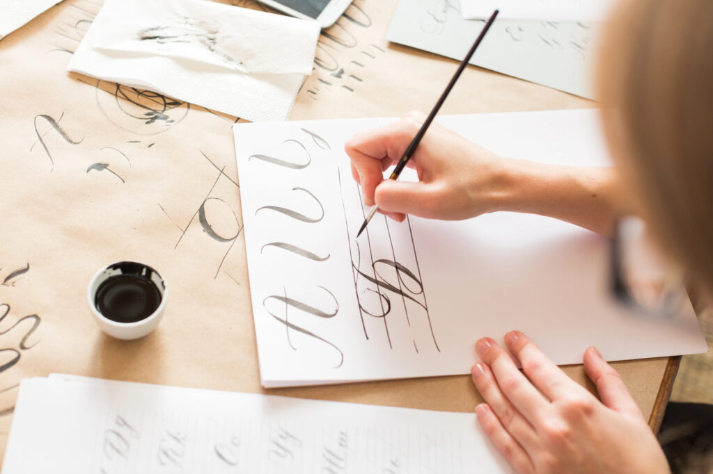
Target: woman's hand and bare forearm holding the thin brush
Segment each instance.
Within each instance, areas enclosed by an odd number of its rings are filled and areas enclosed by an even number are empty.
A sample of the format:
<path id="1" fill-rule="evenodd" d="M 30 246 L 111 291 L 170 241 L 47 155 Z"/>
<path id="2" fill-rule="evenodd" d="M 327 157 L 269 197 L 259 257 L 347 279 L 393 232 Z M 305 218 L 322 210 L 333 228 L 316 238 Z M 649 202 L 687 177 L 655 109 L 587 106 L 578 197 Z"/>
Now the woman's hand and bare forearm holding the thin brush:
<path id="1" fill-rule="evenodd" d="M 397 221 L 406 214 L 460 220 L 512 211 L 558 218 L 606 235 L 617 216 L 630 214 L 613 168 L 498 157 L 437 123 L 407 164 L 416 168 L 419 182 L 384 179 L 424 120 L 421 112 L 409 112 L 394 123 L 357 133 L 344 145 L 364 204 L 378 204 L 382 214 Z"/>

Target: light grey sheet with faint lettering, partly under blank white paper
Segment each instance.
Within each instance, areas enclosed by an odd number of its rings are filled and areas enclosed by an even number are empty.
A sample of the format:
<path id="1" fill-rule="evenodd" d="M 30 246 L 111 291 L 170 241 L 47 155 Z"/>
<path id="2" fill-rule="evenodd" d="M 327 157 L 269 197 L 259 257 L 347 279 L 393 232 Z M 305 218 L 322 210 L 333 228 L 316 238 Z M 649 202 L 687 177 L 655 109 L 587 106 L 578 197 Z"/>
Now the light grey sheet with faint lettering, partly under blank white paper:
<path id="1" fill-rule="evenodd" d="M 460 61 L 484 24 L 464 20 L 455 0 L 401 0 L 386 39 Z M 597 23 L 498 19 L 470 63 L 593 98 L 591 68 L 598 28 Z"/>

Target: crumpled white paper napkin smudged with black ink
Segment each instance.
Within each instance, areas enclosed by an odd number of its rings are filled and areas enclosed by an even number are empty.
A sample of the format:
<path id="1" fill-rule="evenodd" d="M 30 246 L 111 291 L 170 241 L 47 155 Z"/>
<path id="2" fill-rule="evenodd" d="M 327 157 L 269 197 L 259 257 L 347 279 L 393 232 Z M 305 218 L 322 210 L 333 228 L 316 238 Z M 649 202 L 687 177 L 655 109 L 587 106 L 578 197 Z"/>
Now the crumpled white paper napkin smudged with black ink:
<path id="1" fill-rule="evenodd" d="M 107 0 L 67 68 L 255 122 L 287 120 L 315 21 L 212 1 Z"/>

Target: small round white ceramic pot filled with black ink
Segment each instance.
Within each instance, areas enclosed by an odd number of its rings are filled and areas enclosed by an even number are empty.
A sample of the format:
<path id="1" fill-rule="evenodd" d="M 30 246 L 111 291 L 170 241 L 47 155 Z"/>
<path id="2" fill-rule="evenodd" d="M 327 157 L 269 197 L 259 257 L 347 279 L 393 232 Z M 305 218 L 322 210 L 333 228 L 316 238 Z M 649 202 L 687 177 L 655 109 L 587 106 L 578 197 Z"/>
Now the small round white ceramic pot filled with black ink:
<path id="1" fill-rule="evenodd" d="M 138 339 L 155 330 L 167 297 L 168 288 L 161 275 L 133 261 L 106 265 L 87 288 L 94 320 L 103 332 L 117 339 Z"/>

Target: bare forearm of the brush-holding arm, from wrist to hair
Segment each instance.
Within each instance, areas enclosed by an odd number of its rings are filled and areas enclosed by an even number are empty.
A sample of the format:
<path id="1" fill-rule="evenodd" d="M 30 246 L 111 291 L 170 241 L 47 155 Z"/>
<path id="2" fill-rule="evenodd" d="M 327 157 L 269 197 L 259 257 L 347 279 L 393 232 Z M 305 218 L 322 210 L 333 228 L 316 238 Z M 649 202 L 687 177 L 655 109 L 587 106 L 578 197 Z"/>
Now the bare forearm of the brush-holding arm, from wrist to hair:
<path id="1" fill-rule="evenodd" d="M 565 167 L 503 159 L 494 210 L 558 218 L 611 236 L 624 213 L 612 167 Z"/>

